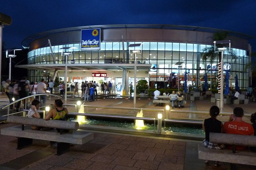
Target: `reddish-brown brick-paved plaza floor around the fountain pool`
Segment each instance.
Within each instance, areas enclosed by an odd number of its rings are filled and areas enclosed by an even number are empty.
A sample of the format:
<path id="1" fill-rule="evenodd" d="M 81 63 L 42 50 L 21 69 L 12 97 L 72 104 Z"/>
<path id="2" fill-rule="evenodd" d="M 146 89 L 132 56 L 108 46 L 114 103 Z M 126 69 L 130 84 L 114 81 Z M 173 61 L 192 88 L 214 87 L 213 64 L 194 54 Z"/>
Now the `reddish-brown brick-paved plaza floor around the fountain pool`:
<path id="1" fill-rule="evenodd" d="M 1 100 L 7 100 L 5 95 Z M 68 104 L 76 104 L 79 97 L 68 98 Z M 53 101 L 52 101 L 53 102 Z M 108 106 L 125 108 L 165 109 L 164 106 L 154 105 L 148 97 L 137 97 L 134 105 L 133 98 L 116 95 L 99 95 L 94 102 L 85 102 L 84 105 Z M 194 114 L 190 111 L 209 111 L 215 103 L 209 99 L 203 101 L 187 101 L 184 108 L 172 109 L 168 112 L 171 119 L 203 120 L 209 118 L 208 114 Z M 255 112 L 255 102 L 249 104 L 224 104 L 224 112 L 233 112 L 234 107 L 242 107 L 246 114 Z M 69 112 L 76 112 L 74 107 L 68 107 Z M 175 111 L 185 111 L 177 113 Z M 138 111 L 125 109 L 103 109 L 85 107 L 85 113 L 114 114 L 136 116 Z M 144 111 L 145 117 L 157 118 L 159 112 Z M 163 113 L 165 118 L 166 111 Z M 219 116 L 218 119 L 226 121 L 228 116 Z M 244 118 L 249 122 L 249 117 Z M 0 129 L 15 124 L 1 123 Z M 71 151 L 60 156 L 55 155 L 56 148 L 50 146 L 49 141 L 33 140 L 33 145 L 17 148 L 17 138 L 0 135 L 0 170 L 211 170 L 229 169 L 228 163 L 214 167 L 204 165 L 204 160 L 198 159 L 198 144 L 201 141 L 181 140 L 162 136 L 142 136 L 133 134 L 118 134 L 94 130 L 81 130 L 94 132 L 94 140 L 84 145 L 72 145 Z M 171 132 L 170 132 L 171 133 Z M 230 151 L 231 152 L 231 151 Z M 239 165 L 239 169 L 252 170 L 255 166 Z"/>

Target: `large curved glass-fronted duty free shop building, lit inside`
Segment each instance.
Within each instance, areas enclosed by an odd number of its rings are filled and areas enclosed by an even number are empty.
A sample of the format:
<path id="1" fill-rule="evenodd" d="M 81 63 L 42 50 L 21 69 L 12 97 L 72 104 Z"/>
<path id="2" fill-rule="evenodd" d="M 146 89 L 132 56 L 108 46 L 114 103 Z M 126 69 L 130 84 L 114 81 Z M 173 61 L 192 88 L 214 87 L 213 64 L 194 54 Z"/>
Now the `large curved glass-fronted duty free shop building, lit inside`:
<path id="1" fill-rule="evenodd" d="M 128 70 L 130 72 L 128 77 L 132 79 L 134 78 L 132 72 L 134 71 L 135 56 L 129 53 L 129 45 L 141 44 L 141 47 L 134 47 L 134 50 L 142 49 L 141 54 L 137 54 L 135 60 L 138 66 L 142 66 L 137 69 L 137 77 L 147 78 L 150 81 L 150 87 L 154 87 L 155 83 L 163 88 L 175 86 L 176 83 L 170 83 L 170 81 L 177 77 L 177 74 L 180 75 L 182 86 L 186 72 L 188 73 L 188 85 L 200 87 L 204 83 L 204 75 L 207 73 L 208 87 L 217 88 L 218 53 L 213 61 L 207 60 L 207 58 L 203 60 L 202 55 L 206 47 L 213 45 L 213 40 L 209 40 L 208 37 L 221 30 L 201 28 L 194 31 L 191 30 L 192 27 L 188 26 L 161 28 L 154 25 L 154 28 L 152 27 L 150 25 L 143 25 L 143 27 L 133 25 L 129 28 L 94 26 L 94 28 L 102 29 L 101 49 L 94 51 L 80 50 L 79 32 L 86 27 L 53 30 L 43 33 L 43 37 L 34 35 L 32 40 L 31 37 L 28 37 L 22 42 L 24 47 L 30 49 L 27 58 L 28 64 L 17 67 L 27 68 L 28 77 L 32 81 L 47 77 L 47 74 L 48 78 L 51 78 L 56 69 L 62 76 L 61 71 L 64 71 L 62 68 L 65 58 L 62 56 L 61 48 L 70 47 L 66 50 L 72 54 L 68 56 L 69 77 L 91 79 L 92 73 L 105 72 L 108 73 L 107 77 L 122 79 L 124 75 L 121 73 L 122 70 Z M 124 35 L 123 39 L 122 35 Z M 241 38 L 241 35 L 231 34 L 227 37 L 228 40 L 231 40 L 233 53 L 231 55 L 225 51 L 223 60 L 224 68 L 228 67 L 229 70 L 230 85 L 235 86 L 237 74 L 239 87 L 245 89 L 249 86 L 250 70 L 247 66 L 250 63 L 250 45 L 247 41 L 248 37 Z M 50 45 L 45 45 L 48 40 L 51 42 L 52 50 Z"/>

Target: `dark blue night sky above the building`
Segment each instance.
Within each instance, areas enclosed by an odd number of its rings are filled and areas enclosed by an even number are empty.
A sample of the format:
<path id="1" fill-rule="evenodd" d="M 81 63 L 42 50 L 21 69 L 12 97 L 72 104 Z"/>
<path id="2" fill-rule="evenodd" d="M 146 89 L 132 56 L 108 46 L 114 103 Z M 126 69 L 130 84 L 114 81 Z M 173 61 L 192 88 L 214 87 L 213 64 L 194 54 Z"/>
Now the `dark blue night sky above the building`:
<path id="1" fill-rule="evenodd" d="M 106 24 L 174 24 L 225 29 L 256 37 L 256 0 L 1 0 L 12 18 L 3 29 L 5 49 L 30 35 Z M 250 41 L 256 51 L 256 39 Z"/>

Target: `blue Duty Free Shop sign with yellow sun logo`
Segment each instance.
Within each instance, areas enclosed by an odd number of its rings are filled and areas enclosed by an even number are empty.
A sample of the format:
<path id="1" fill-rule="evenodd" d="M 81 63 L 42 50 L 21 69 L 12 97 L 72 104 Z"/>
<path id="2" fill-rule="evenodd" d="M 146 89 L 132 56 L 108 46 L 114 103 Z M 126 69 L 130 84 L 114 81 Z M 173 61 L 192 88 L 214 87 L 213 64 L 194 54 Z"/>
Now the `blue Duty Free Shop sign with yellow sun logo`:
<path id="1" fill-rule="evenodd" d="M 81 50 L 100 50 L 101 29 L 81 30 Z"/>

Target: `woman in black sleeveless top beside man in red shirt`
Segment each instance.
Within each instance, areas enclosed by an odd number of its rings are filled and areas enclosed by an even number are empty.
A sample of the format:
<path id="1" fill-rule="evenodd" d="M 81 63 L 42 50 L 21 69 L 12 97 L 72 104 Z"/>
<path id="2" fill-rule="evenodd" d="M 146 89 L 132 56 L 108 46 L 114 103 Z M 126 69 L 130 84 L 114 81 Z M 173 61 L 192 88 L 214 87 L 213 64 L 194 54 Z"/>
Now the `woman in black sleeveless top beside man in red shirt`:
<path id="1" fill-rule="evenodd" d="M 217 116 L 219 115 L 219 108 L 217 106 L 212 106 L 210 108 L 210 118 L 204 119 L 203 121 L 203 130 L 205 131 L 205 139 L 203 140 L 203 145 L 210 149 L 223 149 L 225 148 L 225 145 L 218 144 L 218 143 L 210 143 L 210 132 L 214 133 L 222 133 L 223 132 L 223 125 L 222 122 L 217 119 Z M 204 162 L 206 164 L 209 164 L 209 160 L 206 160 Z M 221 165 L 218 161 L 215 162 L 214 166 Z"/>

